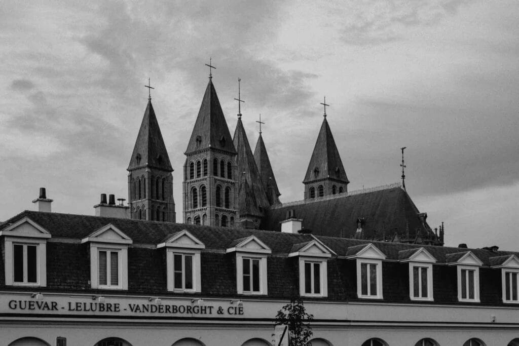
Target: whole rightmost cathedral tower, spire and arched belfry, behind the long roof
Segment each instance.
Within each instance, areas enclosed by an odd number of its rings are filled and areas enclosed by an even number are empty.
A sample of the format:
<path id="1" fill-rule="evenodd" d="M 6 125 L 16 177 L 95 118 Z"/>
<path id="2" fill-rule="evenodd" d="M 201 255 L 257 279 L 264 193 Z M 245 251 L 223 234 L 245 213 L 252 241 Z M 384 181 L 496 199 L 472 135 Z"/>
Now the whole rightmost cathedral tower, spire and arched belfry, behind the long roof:
<path id="1" fill-rule="evenodd" d="M 348 177 L 335 145 L 332 130 L 326 120 L 326 108 L 303 184 L 305 184 L 305 199 L 348 191 Z"/>

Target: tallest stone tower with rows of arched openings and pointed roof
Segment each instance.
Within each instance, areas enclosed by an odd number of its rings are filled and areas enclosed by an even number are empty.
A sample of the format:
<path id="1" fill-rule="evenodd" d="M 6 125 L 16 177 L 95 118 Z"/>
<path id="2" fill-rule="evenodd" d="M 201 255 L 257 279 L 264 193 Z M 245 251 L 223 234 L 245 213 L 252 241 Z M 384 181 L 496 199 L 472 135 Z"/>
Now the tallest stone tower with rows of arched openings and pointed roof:
<path id="1" fill-rule="evenodd" d="M 184 154 L 184 223 L 234 227 L 236 149 L 211 77 Z"/>

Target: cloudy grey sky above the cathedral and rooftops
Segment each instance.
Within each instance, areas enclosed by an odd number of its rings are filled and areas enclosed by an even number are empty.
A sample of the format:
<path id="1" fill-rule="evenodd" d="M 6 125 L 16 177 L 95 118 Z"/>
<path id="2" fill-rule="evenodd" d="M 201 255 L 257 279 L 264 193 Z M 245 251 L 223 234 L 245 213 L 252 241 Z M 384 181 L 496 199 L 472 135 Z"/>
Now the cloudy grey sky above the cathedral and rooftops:
<path id="1" fill-rule="evenodd" d="M 283 202 L 327 120 L 348 190 L 399 182 L 446 245 L 519 251 L 519 2 L 354 0 L 2 1 L 0 220 L 32 210 L 93 215 L 127 198 L 126 171 L 153 105 L 182 169 L 208 67 L 230 133 L 263 139 Z"/>

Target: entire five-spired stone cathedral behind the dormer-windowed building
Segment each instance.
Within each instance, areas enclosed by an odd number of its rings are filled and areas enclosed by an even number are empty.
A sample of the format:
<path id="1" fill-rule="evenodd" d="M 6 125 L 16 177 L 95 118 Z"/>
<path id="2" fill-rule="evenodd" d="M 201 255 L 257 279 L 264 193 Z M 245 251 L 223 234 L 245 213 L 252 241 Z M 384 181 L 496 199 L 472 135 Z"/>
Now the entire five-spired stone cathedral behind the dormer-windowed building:
<path id="1" fill-rule="evenodd" d="M 240 104 L 240 98 L 237 99 Z M 324 118 L 303 179 L 304 199 L 281 203 L 260 128 L 254 151 L 238 112 L 231 137 L 209 76 L 187 148 L 182 222 L 217 227 L 312 233 L 319 236 L 443 245 L 405 185 L 348 191 L 349 179 Z M 176 222 L 173 168 L 151 97 L 128 166 L 129 217 Z"/>

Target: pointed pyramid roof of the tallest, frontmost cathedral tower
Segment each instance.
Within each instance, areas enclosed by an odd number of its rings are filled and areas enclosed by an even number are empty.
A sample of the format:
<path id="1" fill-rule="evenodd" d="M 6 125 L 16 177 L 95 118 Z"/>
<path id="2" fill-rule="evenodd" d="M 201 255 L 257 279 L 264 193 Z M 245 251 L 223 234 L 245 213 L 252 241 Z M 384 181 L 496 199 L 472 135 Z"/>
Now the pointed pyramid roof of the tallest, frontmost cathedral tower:
<path id="1" fill-rule="evenodd" d="M 184 154 L 193 151 L 214 148 L 236 154 L 233 141 L 225 116 L 218 101 L 213 82 L 209 79 L 206 93 L 203 95 L 202 104 L 196 118 L 195 127 L 191 133 L 189 144 Z"/>

